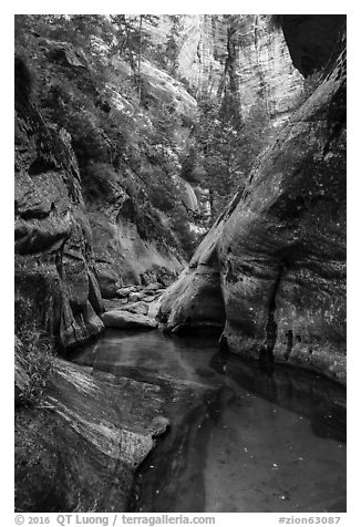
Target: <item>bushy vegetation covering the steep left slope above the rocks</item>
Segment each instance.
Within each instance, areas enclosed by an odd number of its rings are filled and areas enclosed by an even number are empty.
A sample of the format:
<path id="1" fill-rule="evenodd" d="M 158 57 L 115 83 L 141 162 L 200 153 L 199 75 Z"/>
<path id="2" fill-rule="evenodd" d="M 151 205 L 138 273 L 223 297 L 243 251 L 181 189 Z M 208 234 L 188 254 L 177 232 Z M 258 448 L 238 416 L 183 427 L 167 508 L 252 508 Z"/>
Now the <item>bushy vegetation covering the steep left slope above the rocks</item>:
<path id="1" fill-rule="evenodd" d="M 143 92 L 140 97 L 132 48 L 137 33 L 126 25 L 124 42 L 115 22 L 100 16 L 17 17 L 17 52 L 31 71 L 43 118 L 71 136 L 86 202 L 112 202 L 114 190 L 123 192 L 140 218 L 147 218 L 152 237 L 187 252 L 190 231 L 182 244 L 177 226 L 169 229 L 157 214 L 186 213 L 173 177 L 179 165 L 176 134 L 187 128 L 172 101 L 145 101 Z M 118 68 L 131 64 L 131 74 L 116 71 L 113 58 Z"/>

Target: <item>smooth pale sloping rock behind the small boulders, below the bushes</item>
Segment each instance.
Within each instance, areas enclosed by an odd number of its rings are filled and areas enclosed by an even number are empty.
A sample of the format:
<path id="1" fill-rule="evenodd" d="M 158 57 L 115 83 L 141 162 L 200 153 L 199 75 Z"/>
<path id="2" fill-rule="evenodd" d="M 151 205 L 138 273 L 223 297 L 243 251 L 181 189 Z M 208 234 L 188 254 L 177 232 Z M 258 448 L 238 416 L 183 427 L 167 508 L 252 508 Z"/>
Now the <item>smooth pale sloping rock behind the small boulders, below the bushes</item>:
<path id="1" fill-rule="evenodd" d="M 121 192 L 120 186 L 117 189 Z M 102 297 L 115 297 L 124 283 L 161 280 L 168 286 L 185 261 L 166 244 L 154 240 L 149 219 L 142 218 L 128 196 L 110 202 L 109 196 L 101 204 L 87 204 Z"/>

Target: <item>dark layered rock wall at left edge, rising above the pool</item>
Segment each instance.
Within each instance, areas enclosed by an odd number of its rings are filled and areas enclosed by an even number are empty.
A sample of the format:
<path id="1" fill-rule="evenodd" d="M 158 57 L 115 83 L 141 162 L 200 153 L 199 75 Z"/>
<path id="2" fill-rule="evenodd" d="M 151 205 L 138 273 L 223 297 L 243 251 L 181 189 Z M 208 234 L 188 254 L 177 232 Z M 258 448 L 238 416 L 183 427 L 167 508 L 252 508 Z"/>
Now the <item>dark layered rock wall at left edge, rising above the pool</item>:
<path id="1" fill-rule="evenodd" d="M 22 91 L 16 93 L 16 309 L 61 347 L 103 329 L 103 311 L 78 164 L 64 131 L 45 126 Z"/>

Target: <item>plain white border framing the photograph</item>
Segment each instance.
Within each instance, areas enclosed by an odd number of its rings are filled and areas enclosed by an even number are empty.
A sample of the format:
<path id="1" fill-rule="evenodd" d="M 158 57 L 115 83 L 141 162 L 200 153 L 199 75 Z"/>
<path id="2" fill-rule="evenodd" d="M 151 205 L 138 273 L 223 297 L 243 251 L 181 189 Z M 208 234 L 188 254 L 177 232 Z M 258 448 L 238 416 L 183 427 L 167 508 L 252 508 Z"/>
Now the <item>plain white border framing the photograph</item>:
<path id="1" fill-rule="evenodd" d="M 130 11 L 130 7 L 132 10 Z M 122 9 L 123 8 L 123 9 Z M 271 9 L 272 8 L 272 9 Z M 357 153 L 360 151 L 360 86 L 358 78 L 361 69 L 361 17 L 360 4 L 351 1 L 316 2 L 302 1 L 291 4 L 286 1 L 238 1 L 238 2 L 152 2 L 132 0 L 132 2 L 75 2 L 64 0 L 59 3 L 48 1 L 16 1 L 2 8 L 2 29 L 0 32 L 1 50 L 1 185 L 2 203 L 0 206 L 1 225 L 1 329 L 2 329 L 2 434 L 1 464 L 2 489 L 1 512 L 4 517 L 2 525 L 13 525 L 13 14 L 14 13 L 154 13 L 154 14 L 221 14 L 221 13 L 347 13 L 348 14 L 348 400 L 349 400 L 349 442 L 348 442 L 348 513 L 342 515 L 340 526 L 359 525 L 360 496 L 360 215 L 361 209 L 361 169 Z M 357 164 L 358 162 L 358 164 Z M 240 517 L 241 516 L 241 517 Z M 297 515 L 295 515 L 297 516 Z M 306 516 L 306 515 L 303 515 Z M 221 514 L 217 515 L 217 525 L 278 525 L 278 514 Z M 361 514 L 360 514 L 361 517 Z"/>

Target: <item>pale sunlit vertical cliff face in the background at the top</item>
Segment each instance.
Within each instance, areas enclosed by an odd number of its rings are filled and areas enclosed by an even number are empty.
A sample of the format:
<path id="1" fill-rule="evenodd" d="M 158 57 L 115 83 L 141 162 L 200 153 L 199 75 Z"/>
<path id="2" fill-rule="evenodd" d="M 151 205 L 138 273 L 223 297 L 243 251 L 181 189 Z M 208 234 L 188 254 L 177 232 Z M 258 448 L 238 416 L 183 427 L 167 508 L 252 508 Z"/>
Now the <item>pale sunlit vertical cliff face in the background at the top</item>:
<path id="1" fill-rule="evenodd" d="M 158 32 L 173 34 L 175 68 L 196 93 L 231 93 L 245 116 L 261 97 L 275 124 L 289 116 L 303 80 L 282 32 L 271 29 L 270 16 L 187 14 L 174 17 L 173 23 L 163 16 Z"/>

